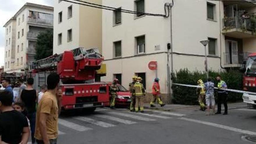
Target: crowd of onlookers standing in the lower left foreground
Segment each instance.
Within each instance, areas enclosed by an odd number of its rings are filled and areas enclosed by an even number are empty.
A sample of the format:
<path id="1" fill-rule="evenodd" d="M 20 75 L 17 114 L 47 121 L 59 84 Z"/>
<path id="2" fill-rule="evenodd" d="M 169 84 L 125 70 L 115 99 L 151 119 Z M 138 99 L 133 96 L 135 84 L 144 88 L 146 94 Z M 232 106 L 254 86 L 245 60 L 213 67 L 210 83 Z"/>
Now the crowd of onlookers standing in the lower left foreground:
<path id="1" fill-rule="evenodd" d="M 1 83 L 0 144 L 56 143 L 58 107 L 62 92 L 58 89 L 59 75 L 50 74 L 40 92 L 28 78 L 11 86 L 9 79 Z M 47 90 L 48 88 L 48 90 Z"/>

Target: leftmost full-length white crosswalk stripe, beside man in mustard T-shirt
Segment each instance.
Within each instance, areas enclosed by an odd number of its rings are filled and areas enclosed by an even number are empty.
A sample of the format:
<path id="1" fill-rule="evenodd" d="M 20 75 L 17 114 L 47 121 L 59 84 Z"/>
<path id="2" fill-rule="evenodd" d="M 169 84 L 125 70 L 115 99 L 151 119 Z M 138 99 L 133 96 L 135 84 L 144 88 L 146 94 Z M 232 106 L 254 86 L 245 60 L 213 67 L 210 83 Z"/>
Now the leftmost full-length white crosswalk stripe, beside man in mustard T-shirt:
<path id="1" fill-rule="evenodd" d="M 88 131 L 88 130 L 92 130 L 92 128 L 89 127 L 84 127 L 82 125 L 77 125 L 76 123 L 73 122 L 69 122 L 67 120 L 63 120 L 63 119 L 58 119 L 58 123 L 60 125 L 63 125 L 64 127 L 68 127 L 70 129 L 74 129 L 76 131 Z"/>

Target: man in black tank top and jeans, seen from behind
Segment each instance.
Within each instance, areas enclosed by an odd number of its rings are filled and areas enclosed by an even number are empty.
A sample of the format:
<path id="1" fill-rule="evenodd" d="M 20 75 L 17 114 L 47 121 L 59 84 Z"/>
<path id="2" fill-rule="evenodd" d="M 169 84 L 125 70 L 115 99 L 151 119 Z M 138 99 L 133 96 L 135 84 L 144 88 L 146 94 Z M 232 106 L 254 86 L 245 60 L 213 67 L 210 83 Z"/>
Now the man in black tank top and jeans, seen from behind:
<path id="1" fill-rule="evenodd" d="M 20 98 L 22 102 L 24 102 L 26 109 L 28 110 L 28 119 L 30 121 L 30 129 L 31 129 L 31 139 L 32 143 L 35 143 L 35 115 L 36 115 L 36 101 L 37 101 L 37 93 L 36 90 L 33 89 L 34 79 L 29 78 L 27 80 L 27 88 L 22 90 Z"/>

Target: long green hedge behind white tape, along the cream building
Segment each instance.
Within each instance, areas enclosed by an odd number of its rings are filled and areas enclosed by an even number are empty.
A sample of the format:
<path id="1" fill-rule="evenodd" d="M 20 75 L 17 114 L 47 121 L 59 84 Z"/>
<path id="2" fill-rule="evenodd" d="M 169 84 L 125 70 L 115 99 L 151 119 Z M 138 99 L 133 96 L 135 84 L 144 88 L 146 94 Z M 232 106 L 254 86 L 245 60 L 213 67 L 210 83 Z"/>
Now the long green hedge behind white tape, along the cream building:
<path id="1" fill-rule="evenodd" d="M 188 69 L 181 69 L 172 73 L 172 82 L 180 84 L 197 85 L 197 81 L 202 79 L 206 82 L 206 73 L 200 71 L 189 71 Z M 217 87 L 216 76 L 220 75 L 222 80 L 227 83 L 229 89 L 242 90 L 243 76 L 238 71 L 230 72 L 209 72 L 209 77 Z M 172 100 L 175 104 L 196 105 L 198 104 L 198 95 L 196 95 L 196 88 L 172 85 L 173 95 Z M 216 94 L 215 94 L 216 96 Z M 217 97 L 215 97 L 217 100 Z M 237 102 L 242 100 L 241 93 L 228 92 L 228 102 Z"/>

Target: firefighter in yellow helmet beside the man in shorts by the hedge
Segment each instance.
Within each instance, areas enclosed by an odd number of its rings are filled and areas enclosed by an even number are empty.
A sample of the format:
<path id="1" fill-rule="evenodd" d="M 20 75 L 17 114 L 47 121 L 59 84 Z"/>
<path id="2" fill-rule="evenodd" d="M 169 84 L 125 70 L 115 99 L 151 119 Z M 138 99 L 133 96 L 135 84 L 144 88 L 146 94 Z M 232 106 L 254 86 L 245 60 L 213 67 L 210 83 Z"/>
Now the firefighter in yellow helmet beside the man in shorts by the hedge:
<path id="1" fill-rule="evenodd" d="M 202 79 L 199 79 L 197 81 L 198 83 L 198 86 L 202 86 L 203 88 L 197 88 L 196 89 L 196 94 L 199 95 L 198 96 L 198 102 L 199 102 L 199 105 L 200 105 L 200 110 L 201 111 L 205 111 L 206 109 L 206 106 L 205 106 L 205 84 L 204 82 L 202 81 Z"/>

